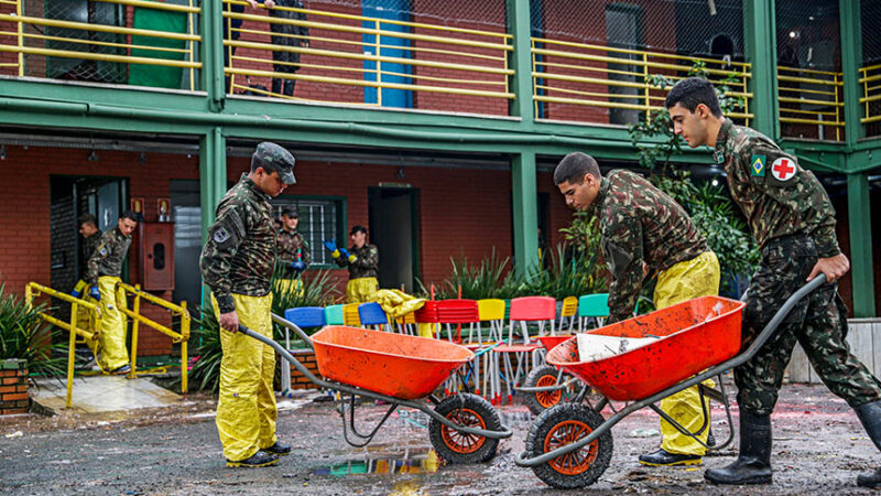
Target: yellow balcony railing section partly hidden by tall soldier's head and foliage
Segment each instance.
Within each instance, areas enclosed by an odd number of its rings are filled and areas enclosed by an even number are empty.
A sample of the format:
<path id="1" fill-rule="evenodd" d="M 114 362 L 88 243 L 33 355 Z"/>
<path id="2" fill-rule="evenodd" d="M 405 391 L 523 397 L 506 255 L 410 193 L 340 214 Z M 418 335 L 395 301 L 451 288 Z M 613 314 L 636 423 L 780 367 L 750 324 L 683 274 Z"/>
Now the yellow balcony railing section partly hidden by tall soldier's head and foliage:
<path id="1" fill-rule="evenodd" d="M 731 88 L 726 95 L 742 98 L 744 105 L 729 117 L 744 119 L 749 125 L 750 64 L 543 37 L 532 39 L 535 111 L 539 115 L 540 103 L 546 103 L 637 110 L 648 116 L 664 108 L 666 96 L 664 89 L 651 84 L 650 76 L 663 75 L 675 82 L 687 77 L 695 62 L 705 64 L 705 72 L 716 84 L 733 76 L 732 82 L 725 83 Z M 612 93 L 613 88 L 629 93 Z M 554 114 L 550 108 L 546 117 L 556 119 Z"/>

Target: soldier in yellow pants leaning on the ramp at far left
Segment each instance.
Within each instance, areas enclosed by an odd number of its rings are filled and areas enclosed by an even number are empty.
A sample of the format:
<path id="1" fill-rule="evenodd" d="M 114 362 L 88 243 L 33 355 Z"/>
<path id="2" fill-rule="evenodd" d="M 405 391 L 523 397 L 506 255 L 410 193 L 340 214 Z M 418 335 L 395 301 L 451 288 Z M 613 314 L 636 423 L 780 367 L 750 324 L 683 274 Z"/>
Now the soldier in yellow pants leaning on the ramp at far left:
<path id="1" fill-rule="evenodd" d="M 98 366 L 105 373 L 127 374 L 131 370 L 129 351 L 126 349 L 126 319 L 119 311 L 126 306 L 126 296 L 117 291 L 117 282 L 139 218 L 140 214 L 135 212 L 123 212 L 117 227 L 101 236 L 86 271 L 86 283 L 91 287 L 89 296 L 101 304 L 101 330 L 97 345 L 101 351 Z"/>

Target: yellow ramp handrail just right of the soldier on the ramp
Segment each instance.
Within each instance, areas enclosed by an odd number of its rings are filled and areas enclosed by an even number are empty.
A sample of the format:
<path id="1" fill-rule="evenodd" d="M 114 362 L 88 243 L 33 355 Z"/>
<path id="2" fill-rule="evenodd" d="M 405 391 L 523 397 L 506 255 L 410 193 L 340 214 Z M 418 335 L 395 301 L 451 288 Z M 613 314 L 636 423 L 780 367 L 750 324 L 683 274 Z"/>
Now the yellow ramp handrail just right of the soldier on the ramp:
<path id="1" fill-rule="evenodd" d="M 131 371 L 130 378 L 134 378 L 138 373 L 138 331 L 141 324 L 150 328 L 156 330 L 162 334 L 172 338 L 172 343 L 181 343 L 181 392 L 187 392 L 187 341 L 189 339 L 189 312 L 186 310 L 186 302 L 182 301 L 180 305 L 165 301 L 159 296 L 154 296 L 145 291 L 142 291 L 140 285 L 130 285 L 124 282 L 117 282 L 117 288 L 126 291 L 127 296 L 134 298 L 132 310 L 119 306 L 119 311 L 124 313 L 132 320 L 131 324 Z M 175 332 L 172 328 L 152 321 L 141 315 L 141 300 L 153 303 L 156 306 L 167 310 L 172 314 L 172 320 L 175 316 L 181 317 L 181 331 Z"/>

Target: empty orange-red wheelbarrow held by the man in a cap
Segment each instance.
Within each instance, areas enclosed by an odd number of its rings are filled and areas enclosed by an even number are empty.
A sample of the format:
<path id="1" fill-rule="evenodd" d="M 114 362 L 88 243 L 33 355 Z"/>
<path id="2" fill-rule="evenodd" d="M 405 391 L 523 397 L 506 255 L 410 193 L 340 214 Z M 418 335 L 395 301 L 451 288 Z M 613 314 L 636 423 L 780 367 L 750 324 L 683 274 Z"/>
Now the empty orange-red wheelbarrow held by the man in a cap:
<path id="1" fill-rule="evenodd" d="M 272 314 L 272 320 L 294 330 L 315 349 L 318 371 L 325 379 L 316 377 L 275 341 L 244 326 L 240 326 L 240 332 L 272 346 L 312 382 L 340 392 L 337 411 L 342 419 L 342 435 L 352 446 L 370 443 L 399 407 L 415 408 L 431 418 L 432 445 L 452 463 L 487 462 L 496 456 L 499 440 L 512 434 L 483 398 L 463 392 L 442 400 L 433 395 L 450 373 L 474 358 L 474 353 L 464 346 L 341 325 L 326 326 L 309 337 L 285 319 Z M 346 395 L 350 397 L 348 406 Z M 367 434 L 358 432 L 355 425 L 356 396 L 390 405 L 385 416 Z"/>

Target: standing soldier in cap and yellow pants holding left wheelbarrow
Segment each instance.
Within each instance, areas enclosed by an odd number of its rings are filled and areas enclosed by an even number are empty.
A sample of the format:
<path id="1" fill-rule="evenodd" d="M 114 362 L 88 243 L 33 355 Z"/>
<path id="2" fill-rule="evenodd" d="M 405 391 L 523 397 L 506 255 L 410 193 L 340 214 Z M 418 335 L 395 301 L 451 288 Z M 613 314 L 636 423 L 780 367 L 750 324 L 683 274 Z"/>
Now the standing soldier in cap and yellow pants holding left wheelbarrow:
<path id="1" fill-rule="evenodd" d="M 224 351 L 217 431 L 227 466 L 273 465 L 291 453 L 275 436 L 275 352 L 238 330 L 241 323 L 272 337 L 275 229 L 269 200 L 295 182 L 294 157 L 275 143 L 258 144 L 250 173 L 217 205 L 202 251 L 202 278 L 211 290 Z"/>

